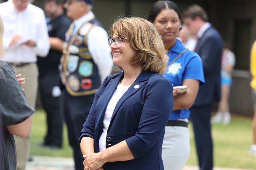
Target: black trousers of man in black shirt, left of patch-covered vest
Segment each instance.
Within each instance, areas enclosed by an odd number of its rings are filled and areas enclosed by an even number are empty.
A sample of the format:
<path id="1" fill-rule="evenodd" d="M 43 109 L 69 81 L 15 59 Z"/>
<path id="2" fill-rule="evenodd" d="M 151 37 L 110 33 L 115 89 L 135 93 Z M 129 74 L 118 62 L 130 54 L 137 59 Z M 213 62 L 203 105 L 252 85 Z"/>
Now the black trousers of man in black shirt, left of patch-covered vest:
<path id="1" fill-rule="evenodd" d="M 61 94 L 53 96 L 53 87 L 59 86 L 58 73 L 39 77 L 39 91 L 47 117 L 47 134 L 44 144 L 62 146 L 63 118 L 61 112 Z M 56 90 L 56 89 L 55 89 Z"/>

